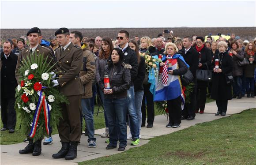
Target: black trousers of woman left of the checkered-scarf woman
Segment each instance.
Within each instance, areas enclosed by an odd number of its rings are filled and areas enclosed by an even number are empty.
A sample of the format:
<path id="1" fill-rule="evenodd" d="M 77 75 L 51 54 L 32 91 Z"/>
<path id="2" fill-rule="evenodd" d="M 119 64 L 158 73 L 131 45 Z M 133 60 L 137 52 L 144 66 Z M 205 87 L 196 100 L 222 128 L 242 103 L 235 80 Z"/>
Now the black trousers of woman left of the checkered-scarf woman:
<path id="1" fill-rule="evenodd" d="M 142 125 L 146 123 L 146 103 L 145 99 L 147 99 L 147 124 L 154 123 L 154 101 L 153 94 L 149 91 L 151 83 L 147 85 L 143 85 L 144 87 L 144 95 L 141 105 L 141 113 L 142 113 Z"/>

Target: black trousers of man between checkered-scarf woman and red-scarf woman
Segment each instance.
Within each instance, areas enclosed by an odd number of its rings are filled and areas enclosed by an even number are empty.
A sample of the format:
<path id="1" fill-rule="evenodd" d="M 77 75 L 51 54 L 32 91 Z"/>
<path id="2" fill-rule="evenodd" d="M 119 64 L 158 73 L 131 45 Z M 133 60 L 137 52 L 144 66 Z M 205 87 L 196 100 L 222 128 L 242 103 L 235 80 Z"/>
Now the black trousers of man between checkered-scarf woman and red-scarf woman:
<path id="1" fill-rule="evenodd" d="M 185 104 L 184 109 L 182 111 L 182 116 L 184 116 L 184 118 L 187 118 L 188 116 L 196 116 L 196 81 L 194 81 L 194 84 L 195 86 L 193 91 L 190 93 L 189 96 L 187 96 L 190 98 L 190 103 Z"/>

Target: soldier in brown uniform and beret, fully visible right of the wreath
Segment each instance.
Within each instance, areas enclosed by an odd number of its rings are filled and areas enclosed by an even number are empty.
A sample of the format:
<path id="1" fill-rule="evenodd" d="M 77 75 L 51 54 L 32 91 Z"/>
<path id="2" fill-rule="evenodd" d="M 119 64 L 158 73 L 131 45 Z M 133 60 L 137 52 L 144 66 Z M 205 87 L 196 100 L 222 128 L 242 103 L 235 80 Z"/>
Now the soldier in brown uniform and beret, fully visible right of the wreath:
<path id="1" fill-rule="evenodd" d="M 81 138 L 81 97 L 84 94 L 83 84 L 79 78 L 79 71 L 83 64 L 83 50 L 69 41 L 67 28 L 60 28 L 55 32 L 60 45 L 56 49 L 56 60 L 59 67 L 59 79 L 53 80 L 60 86 L 60 92 L 68 97 L 69 105 L 63 104 L 62 115 L 58 127 L 61 149 L 53 154 L 53 158 L 65 157 L 72 160 L 76 157 L 77 145 Z"/>

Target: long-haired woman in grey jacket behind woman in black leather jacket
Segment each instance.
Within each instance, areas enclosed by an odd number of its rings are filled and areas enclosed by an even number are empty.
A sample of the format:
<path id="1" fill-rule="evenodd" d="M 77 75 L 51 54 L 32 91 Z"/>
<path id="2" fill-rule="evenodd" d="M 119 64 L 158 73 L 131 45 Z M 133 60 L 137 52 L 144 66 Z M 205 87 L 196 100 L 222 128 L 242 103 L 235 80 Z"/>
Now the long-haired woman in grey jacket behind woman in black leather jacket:
<path id="1" fill-rule="evenodd" d="M 99 82 L 102 80 L 105 65 L 107 64 L 107 60 L 109 59 L 110 51 L 113 49 L 113 44 L 111 38 L 102 38 L 101 41 L 101 49 L 99 50 L 99 55 L 96 60 L 96 80 L 99 85 L 99 94 L 102 100 L 102 104 L 104 107 L 104 94 L 103 94 L 103 88 L 104 84 L 99 84 Z M 104 108 L 105 109 L 105 108 Z M 107 137 L 109 135 L 109 124 L 108 119 L 106 116 L 106 112 L 104 111 L 104 117 L 105 117 L 105 132 L 101 135 L 101 137 Z"/>

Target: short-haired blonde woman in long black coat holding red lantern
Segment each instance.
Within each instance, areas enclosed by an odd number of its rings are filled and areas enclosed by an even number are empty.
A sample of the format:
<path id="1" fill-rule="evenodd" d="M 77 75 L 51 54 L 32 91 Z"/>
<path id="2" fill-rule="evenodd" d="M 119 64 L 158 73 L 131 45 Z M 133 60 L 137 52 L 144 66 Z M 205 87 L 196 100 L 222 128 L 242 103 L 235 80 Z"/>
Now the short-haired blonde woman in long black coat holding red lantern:
<path id="1" fill-rule="evenodd" d="M 227 44 L 224 41 L 218 43 L 219 54 L 213 59 L 213 75 L 211 98 L 216 100 L 218 111 L 215 116 L 226 115 L 228 100 L 232 99 L 231 83 L 226 83 L 226 75 L 231 75 L 233 61 L 227 53 Z M 215 60 L 219 60 L 219 68 L 215 68 Z"/>

